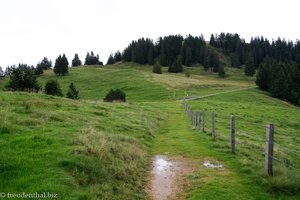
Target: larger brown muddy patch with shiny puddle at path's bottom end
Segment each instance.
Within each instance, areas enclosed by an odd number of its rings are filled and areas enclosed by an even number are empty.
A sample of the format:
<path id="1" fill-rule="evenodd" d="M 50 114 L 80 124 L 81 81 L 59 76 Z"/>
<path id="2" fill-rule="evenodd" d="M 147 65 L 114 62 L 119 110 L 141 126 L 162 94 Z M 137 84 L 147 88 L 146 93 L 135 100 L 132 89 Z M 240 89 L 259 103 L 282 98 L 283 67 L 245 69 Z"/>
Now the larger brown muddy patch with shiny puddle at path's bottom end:
<path id="1" fill-rule="evenodd" d="M 157 155 L 152 161 L 150 186 L 147 189 L 151 199 L 174 199 L 181 189 L 179 174 L 183 165 L 180 161 L 172 161 L 167 156 Z"/>

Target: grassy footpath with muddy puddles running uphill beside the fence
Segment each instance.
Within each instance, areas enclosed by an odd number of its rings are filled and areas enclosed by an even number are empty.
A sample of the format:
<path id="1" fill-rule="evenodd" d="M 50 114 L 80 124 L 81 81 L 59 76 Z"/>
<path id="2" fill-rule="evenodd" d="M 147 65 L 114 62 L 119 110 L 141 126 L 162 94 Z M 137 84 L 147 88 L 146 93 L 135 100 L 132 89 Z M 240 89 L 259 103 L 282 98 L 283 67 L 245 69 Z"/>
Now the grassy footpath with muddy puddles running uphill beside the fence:
<path id="1" fill-rule="evenodd" d="M 165 102 L 167 121 L 152 149 L 147 187 L 150 199 L 255 199 L 253 188 L 212 148 L 204 133 L 192 129 L 179 101 Z M 204 163 L 222 167 L 207 167 Z"/>

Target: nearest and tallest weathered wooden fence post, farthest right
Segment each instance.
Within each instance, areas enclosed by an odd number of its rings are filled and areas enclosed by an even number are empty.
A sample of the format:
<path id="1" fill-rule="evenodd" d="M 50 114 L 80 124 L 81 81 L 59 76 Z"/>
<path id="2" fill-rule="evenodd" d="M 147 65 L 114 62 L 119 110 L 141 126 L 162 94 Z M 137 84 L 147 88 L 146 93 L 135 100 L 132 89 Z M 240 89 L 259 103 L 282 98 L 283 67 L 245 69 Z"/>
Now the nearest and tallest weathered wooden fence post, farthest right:
<path id="1" fill-rule="evenodd" d="M 265 173 L 273 176 L 273 144 L 274 144 L 274 125 L 269 124 L 266 127 L 266 152 L 265 152 Z"/>

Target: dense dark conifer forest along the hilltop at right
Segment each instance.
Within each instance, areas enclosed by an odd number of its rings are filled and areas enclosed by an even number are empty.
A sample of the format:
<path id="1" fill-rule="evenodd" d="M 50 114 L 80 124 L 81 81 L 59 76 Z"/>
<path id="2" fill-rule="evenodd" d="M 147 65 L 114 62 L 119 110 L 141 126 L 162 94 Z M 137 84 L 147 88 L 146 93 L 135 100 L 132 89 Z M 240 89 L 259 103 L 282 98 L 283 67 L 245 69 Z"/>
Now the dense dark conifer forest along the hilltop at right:
<path id="1" fill-rule="evenodd" d="M 170 35 L 156 42 L 149 38 L 132 41 L 122 52 L 111 54 L 107 64 L 136 62 L 168 66 L 168 72 L 182 72 L 182 65 L 202 65 L 206 70 L 225 77 L 225 64 L 218 53 L 230 60 L 230 67 L 243 68 L 245 75 L 256 74 L 256 84 L 276 98 L 300 105 L 300 41 L 264 37 L 246 42 L 239 34 L 211 34 L 209 42 L 202 35 Z M 118 60 L 115 58 L 118 57 Z"/>

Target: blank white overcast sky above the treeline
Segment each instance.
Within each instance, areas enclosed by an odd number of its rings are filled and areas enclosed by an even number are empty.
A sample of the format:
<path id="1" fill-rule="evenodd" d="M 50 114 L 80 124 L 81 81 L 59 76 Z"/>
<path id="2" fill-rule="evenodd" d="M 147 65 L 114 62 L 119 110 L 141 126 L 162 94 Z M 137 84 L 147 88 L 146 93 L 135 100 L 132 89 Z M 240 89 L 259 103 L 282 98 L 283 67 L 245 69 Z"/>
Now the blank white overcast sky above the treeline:
<path id="1" fill-rule="evenodd" d="M 239 33 L 300 39 L 298 0 L 0 0 L 0 66 L 36 65 L 65 53 L 106 63 L 132 40 Z"/>

